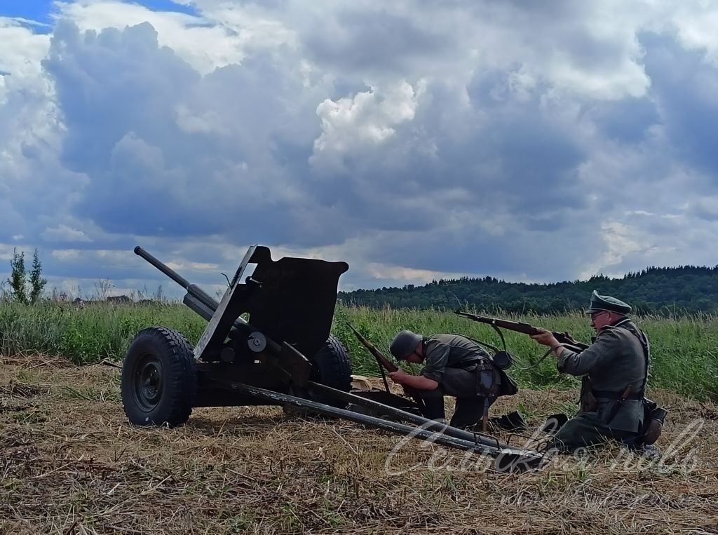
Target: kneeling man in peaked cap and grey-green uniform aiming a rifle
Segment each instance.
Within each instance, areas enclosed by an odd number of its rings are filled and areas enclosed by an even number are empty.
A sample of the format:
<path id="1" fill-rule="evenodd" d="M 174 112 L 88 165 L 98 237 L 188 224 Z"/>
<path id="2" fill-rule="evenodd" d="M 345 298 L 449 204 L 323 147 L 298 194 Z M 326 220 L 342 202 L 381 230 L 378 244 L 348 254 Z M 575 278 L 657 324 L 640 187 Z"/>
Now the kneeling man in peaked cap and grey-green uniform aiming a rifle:
<path id="1" fill-rule="evenodd" d="M 626 316 L 630 310 L 629 304 L 594 290 L 586 311 L 596 331 L 589 348 L 574 353 L 549 331 L 531 337 L 553 350 L 561 373 L 589 381 L 581 390 L 579 414 L 556 433 L 558 450 L 572 452 L 607 439 L 639 445 L 650 350 L 648 339 Z"/>

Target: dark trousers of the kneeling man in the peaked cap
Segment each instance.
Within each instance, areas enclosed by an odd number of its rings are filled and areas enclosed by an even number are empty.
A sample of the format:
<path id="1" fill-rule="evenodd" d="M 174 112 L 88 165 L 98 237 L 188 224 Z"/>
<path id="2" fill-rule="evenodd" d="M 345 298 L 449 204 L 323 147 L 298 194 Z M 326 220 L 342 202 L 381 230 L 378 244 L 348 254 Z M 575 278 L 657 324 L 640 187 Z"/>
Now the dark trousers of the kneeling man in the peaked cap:
<path id="1" fill-rule="evenodd" d="M 597 412 L 584 412 L 569 419 L 554 436 L 555 447 L 560 452 L 574 452 L 582 447 L 605 444 L 615 440 L 627 447 L 636 447 L 638 432 L 611 429 L 601 421 Z"/>

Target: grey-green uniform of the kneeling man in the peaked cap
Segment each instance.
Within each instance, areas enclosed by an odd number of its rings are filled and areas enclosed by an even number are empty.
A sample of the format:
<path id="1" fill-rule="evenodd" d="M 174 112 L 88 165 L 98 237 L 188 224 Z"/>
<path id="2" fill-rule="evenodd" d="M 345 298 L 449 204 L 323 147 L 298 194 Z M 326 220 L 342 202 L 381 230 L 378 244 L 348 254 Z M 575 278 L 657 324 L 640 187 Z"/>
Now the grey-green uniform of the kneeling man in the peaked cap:
<path id="1" fill-rule="evenodd" d="M 579 412 L 564 424 L 556 434 L 556 447 L 573 451 L 607 438 L 633 445 L 643 424 L 643 401 L 626 399 L 614 417 L 609 413 L 628 385 L 633 387 L 633 397 L 643 394 L 648 358 L 648 340 L 628 318 L 603 327 L 595 342 L 581 353 L 562 350 L 556 363 L 559 371 L 589 376 L 597 409 Z M 609 392 L 614 395 L 605 397 Z"/>

